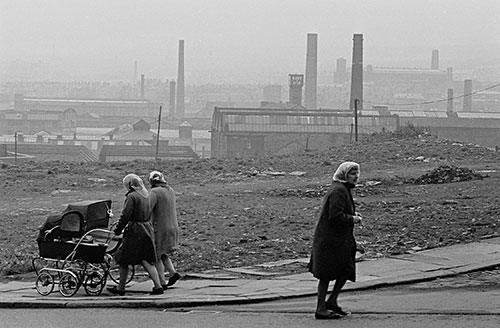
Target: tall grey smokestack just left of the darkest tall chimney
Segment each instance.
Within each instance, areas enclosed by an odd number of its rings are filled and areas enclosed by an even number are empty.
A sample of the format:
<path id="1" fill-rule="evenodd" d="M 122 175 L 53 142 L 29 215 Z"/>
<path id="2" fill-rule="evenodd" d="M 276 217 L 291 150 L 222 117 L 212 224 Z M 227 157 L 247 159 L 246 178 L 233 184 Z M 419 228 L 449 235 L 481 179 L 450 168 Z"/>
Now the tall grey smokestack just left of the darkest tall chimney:
<path id="1" fill-rule="evenodd" d="M 318 35 L 307 34 L 306 81 L 304 89 L 304 107 L 317 107 L 316 92 L 318 86 Z"/>

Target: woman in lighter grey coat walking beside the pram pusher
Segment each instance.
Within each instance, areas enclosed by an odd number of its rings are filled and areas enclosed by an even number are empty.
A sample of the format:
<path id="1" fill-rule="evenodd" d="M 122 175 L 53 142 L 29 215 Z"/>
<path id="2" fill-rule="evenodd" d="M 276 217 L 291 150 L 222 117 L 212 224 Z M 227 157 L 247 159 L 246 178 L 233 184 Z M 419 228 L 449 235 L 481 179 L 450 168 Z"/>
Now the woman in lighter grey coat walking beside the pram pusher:
<path id="1" fill-rule="evenodd" d="M 181 278 L 170 259 L 172 253 L 179 248 L 179 225 L 177 223 L 175 192 L 167 184 L 167 180 L 165 180 L 165 176 L 161 172 L 152 171 L 148 180 L 151 184 L 149 205 L 155 231 L 156 269 L 160 275 L 163 289 L 167 289 Z M 169 273 L 168 282 L 165 281 L 165 270 Z"/>

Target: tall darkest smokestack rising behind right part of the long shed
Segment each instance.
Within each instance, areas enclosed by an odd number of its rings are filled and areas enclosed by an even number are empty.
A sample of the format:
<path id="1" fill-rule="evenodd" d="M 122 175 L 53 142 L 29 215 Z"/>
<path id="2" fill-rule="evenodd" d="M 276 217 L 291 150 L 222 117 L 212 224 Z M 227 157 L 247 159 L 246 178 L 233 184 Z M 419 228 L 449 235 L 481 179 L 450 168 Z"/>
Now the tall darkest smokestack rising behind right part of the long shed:
<path id="1" fill-rule="evenodd" d="M 363 110 L 363 34 L 354 34 L 351 68 L 351 99 L 349 108 L 354 110 L 358 100 L 358 111 Z"/>

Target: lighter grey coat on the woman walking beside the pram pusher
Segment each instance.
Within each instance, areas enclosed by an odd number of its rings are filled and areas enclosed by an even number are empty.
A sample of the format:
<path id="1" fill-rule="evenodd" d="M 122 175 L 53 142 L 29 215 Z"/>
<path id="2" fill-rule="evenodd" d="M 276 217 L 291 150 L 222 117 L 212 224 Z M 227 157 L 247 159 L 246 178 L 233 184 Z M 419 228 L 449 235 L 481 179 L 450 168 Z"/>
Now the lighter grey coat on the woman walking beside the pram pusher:
<path id="1" fill-rule="evenodd" d="M 174 190 L 165 184 L 154 186 L 149 193 L 149 205 L 155 232 L 156 255 L 160 258 L 179 248 Z"/>

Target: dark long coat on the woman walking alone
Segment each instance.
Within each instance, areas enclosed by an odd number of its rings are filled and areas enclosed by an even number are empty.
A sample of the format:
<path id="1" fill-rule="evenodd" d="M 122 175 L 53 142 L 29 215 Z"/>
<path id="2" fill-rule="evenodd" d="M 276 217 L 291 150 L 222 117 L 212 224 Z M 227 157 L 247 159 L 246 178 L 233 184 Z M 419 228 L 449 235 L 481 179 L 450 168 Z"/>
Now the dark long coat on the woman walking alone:
<path id="1" fill-rule="evenodd" d="M 356 280 L 355 215 L 351 186 L 333 182 L 314 232 L 309 271 L 320 280 Z"/>

